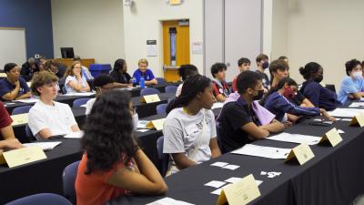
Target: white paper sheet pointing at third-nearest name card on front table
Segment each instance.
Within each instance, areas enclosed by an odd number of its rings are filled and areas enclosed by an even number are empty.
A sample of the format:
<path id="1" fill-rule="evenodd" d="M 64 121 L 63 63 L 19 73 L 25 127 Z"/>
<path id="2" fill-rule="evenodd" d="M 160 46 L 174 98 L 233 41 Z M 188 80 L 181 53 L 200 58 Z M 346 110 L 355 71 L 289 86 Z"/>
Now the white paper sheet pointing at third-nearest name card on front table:
<path id="1" fill-rule="evenodd" d="M 316 145 L 319 143 L 321 138 L 308 136 L 308 135 L 300 135 L 300 134 L 289 134 L 287 132 L 282 132 L 278 135 L 268 137 L 268 139 L 276 140 L 276 141 L 286 141 L 298 144 L 308 144 L 308 145 Z"/>

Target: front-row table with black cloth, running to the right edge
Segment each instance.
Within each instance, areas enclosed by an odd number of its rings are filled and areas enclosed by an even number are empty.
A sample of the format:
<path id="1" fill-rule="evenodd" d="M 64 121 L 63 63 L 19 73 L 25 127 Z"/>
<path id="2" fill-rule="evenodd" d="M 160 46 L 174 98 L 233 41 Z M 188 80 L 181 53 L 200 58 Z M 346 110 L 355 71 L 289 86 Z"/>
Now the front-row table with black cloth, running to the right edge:
<path id="1" fill-rule="evenodd" d="M 335 148 L 310 146 L 315 158 L 303 166 L 298 163 L 284 163 L 283 159 L 264 159 L 227 153 L 195 167 L 184 169 L 167 177 L 167 197 L 184 200 L 194 204 L 216 204 L 217 195 L 210 192 L 215 188 L 205 187 L 210 180 L 225 180 L 230 177 L 245 177 L 252 173 L 255 179 L 263 180 L 259 186 L 261 196 L 249 204 L 264 205 L 342 205 L 351 203 L 360 193 L 364 193 L 364 132 L 362 128 L 349 127 L 348 121 L 339 121 L 330 127 L 308 126 L 304 120 L 286 129 L 289 133 L 322 136 L 329 129 L 339 128 L 343 141 Z M 298 144 L 273 140 L 258 140 L 253 144 L 291 149 Z M 216 161 L 239 165 L 239 169 L 220 169 L 211 167 Z M 279 177 L 269 179 L 261 176 L 261 171 L 282 172 Z M 146 204 L 164 198 L 124 197 L 111 200 L 108 204 Z"/>

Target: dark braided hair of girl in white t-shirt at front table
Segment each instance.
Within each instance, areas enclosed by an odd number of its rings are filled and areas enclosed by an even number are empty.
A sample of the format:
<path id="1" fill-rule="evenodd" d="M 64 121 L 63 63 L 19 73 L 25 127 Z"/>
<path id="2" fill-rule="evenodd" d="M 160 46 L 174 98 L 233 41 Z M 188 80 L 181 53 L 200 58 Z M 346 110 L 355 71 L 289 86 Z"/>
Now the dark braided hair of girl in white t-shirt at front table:
<path id="1" fill-rule="evenodd" d="M 174 108 L 187 106 L 198 93 L 204 92 L 210 84 L 211 80 L 201 75 L 187 78 L 183 83 L 181 95 L 168 104 L 166 108 L 167 114 Z"/>

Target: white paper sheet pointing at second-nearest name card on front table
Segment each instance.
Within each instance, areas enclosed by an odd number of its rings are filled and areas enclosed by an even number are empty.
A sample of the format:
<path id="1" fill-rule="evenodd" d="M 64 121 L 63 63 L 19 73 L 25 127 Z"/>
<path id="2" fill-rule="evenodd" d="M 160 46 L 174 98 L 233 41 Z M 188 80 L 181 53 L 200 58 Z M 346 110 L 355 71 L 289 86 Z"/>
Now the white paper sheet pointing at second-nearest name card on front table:
<path id="1" fill-rule="evenodd" d="M 247 144 L 231 153 L 268 159 L 286 159 L 290 150 Z"/>

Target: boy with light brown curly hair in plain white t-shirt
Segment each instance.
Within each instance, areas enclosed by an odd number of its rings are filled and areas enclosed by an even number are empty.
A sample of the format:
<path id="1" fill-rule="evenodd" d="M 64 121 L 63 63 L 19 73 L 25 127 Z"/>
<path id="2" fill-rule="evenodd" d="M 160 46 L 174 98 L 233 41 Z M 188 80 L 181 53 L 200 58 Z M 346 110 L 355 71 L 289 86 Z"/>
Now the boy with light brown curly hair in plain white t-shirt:
<path id="1" fill-rule="evenodd" d="M 29 110 L 29 128 L 35 138 L 49 138 L 79 131 L 71 108 L 67 104 L 53 101 L 56 98 L 58 77 L 41 71 L 32 79 L 32 93 L 39 101 Z"/>

